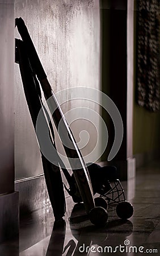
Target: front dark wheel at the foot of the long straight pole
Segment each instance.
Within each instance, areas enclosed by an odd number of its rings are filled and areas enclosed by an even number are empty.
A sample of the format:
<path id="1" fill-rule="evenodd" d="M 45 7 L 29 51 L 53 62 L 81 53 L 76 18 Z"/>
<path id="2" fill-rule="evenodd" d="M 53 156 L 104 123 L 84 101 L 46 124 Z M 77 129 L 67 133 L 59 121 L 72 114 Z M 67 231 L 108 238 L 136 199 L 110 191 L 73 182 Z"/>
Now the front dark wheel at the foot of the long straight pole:
<path id="1" fill-rule="evenodd" d="M 89 212 L 89 219 L 95 226 L 104 226 L 108 220 L 108 213 L 103 207 L 92 208 Z"/>

